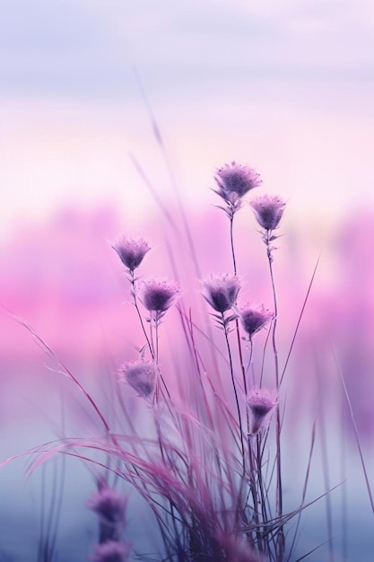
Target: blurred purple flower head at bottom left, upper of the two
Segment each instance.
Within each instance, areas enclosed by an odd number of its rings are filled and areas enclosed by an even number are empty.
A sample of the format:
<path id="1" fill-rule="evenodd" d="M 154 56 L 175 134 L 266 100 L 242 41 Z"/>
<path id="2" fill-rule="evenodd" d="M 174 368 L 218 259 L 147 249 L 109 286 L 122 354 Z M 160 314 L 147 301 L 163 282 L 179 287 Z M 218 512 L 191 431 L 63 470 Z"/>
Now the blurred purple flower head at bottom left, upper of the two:
<path id="1" fill-rule="evenodd" d="M 101 485 L 87 502 L 87 507 L 109 524 L 125 521 L 126 505 L 127 496 L 118 494 L 117 490 L 106 484 Z"/>

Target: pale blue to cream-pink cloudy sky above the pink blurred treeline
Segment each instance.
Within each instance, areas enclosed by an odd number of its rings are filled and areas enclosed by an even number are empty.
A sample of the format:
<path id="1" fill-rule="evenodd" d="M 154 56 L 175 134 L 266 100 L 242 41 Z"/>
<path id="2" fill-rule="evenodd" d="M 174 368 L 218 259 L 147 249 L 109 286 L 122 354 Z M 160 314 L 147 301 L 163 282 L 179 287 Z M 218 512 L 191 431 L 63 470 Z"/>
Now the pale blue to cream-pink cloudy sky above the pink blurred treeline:
<path id="1" fill-rule="evenodd" d="M 237 160 L 295 216 L 374 202 L 371 0 L 14 0 L 0 5 L 0 233 L 67 204 L 188 205 Z M 151 198 L 152 200 L 152 198 Z"/>

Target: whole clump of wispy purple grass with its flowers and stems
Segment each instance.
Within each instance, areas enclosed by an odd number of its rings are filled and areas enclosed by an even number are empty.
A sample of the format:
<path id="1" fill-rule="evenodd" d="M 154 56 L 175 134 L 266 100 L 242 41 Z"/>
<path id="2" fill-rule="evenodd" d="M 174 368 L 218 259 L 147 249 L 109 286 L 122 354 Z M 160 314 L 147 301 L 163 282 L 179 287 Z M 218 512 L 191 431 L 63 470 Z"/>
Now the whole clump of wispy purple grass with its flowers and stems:
<path id="1" fill-rule="evenodd" d="M 89 505 L 100 516 L 100 545 L 92 554 L 98 562 L 131 556 L 178 562 L 294 559 L 300 516 L 310 505 L 306 492 L 315 432 L 311 428 L 301 502 L 286 511 L 283 417 L 291 405 L 284 400 L 283 386 L 289 356 L 281 364 L 275 246 L 285 203 L 268 195 L 250 201 L 264 241 L 269 269 L 264 283 L 271 288 L 273 302 L 268 308 L 243 303 L 234 220 L 245 196 L 260 188 L 261 181 L 256 171 L 236 162 L 218 169 L 214 179 L 222 199 L 217 212 L 229 219 L 232 270 L 196 278 L 201 293 L 197 309 L 188 287 L 169 279 L 144 279 L 144 260 L 152 252 L 147 241 L 121 235 L 113 243 L 143 335 L 134 342 L 135 360 L 118 367 L 115 418 L 106 416 L 94 396 L 28 327 L 102 426 L 100 435 L 39 447 L 30 467 L 35 469 L 57 452 L 91 467 L 98 482 L 97 496 Z M 183 243 L 179 233 L 175 244 L 170 243 L 170 258 Z M 186 248 L 190 243 L 187 237 Z M 195 254 L 188 264 L 196 275 Z M 168 322 L 178 351 L 170 347 L 164 354 Z M 291 346 L 293 342 L 294 338 Z M 259 356 L 262 361 L 257 363 Z M 127 408 L 128 400 L 137 401 L 135 416 Z M 107 484 L 110 474 L 124 480 L 148 505 L 158 530 L 153 552 L 127 540 L 126 502 Z M 118 525 L 125 526 L 125 532 Z"/>

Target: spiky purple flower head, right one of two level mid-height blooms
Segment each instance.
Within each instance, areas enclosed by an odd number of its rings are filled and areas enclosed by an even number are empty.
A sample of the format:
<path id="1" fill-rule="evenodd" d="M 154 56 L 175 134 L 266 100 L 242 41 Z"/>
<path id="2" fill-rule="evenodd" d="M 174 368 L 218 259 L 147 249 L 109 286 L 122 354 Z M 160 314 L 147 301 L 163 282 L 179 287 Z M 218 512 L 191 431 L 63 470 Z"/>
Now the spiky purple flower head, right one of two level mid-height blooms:
<path id="1" fill-rule="evenodd" d="M 236 275 L 211 275 L 202 283 L 204 299 L 215 311 L 226 312 L 236 303 L 240 290 L 239 278 Z"/>

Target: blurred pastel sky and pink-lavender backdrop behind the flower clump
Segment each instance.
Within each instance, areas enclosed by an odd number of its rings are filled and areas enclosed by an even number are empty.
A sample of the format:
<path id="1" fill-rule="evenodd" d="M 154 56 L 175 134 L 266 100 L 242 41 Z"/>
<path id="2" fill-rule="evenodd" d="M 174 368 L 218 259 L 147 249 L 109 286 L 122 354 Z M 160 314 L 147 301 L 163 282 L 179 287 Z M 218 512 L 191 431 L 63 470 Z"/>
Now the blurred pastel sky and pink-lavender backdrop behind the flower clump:
<path id="1" fill-rule="evenodd" d="M 373 514 L 333 350 L 372 473 L 371 0 L 3 0 L 0 16 L 0 303 L 97 391 L 117 364 L 135 358 L 140 337 L 121 306 L 126 280 L 109 241 L 122 232 L 148 237 L 144 274 L 178 273 L 183 298 L 199 310 L 187 228 L 202 275 L 230 270 L 213 173 L 233 160 L 255 167 L 259 189 L 287 200 L 276 255 L 283 361 L 321 252 L 291 356 L 290 458 L 309 440 L 309 421 L 295 420 L 326 410 L 317 465 L 330 451 L 331 481 L 319 467 L 313 486 L 323 493 L 347 478 L 339 501 L 354 518 L 345 520 L 345 547 L 344 522 L 336 522 L 335 559 L 369 562 Z M 248 206 L 235 233 L 244 296 L 266 302 L 265 252 Z M 0 326 L 4 459 L 58 435 L 66 414 L 59 384 L 76 423 L 83 405 L 6 310 Z M 9 467 L 0 486 L 14 515 L 3 509 L 2 519 L 18 521 L 25 540 L 21 547 L 4 523 L 1 552 L 30 560 L 41 477 L 26 484 L 24 464 Z M 74 556 L 84 559 L 94 534 L 95 522 L 84 519 L 92 481 L 80 470 L 66 477 L 65 505 L 74 503 L 77 522 L 72 529 L 62 518 L 61 559 L 72 557 L 64 538 L 79 534 L 79 522 L 86 540 Z M 317 520 L 309 527 L 322 542 Z M 315 560 L 331 557 L 321 552 Z"/>

